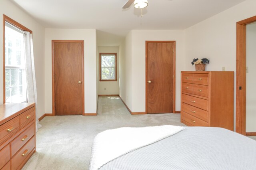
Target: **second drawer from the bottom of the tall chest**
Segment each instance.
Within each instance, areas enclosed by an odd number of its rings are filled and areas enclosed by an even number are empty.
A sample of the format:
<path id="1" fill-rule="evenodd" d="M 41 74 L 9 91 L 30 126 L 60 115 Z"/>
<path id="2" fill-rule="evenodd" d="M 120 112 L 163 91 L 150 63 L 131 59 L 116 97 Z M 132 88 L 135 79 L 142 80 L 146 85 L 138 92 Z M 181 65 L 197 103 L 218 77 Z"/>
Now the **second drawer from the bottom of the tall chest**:
<path id="1" fill-rule="evenodd" d="M 190 106 L 186 103 L 181 104 L 181 109 L 183 112 L 186 112 L 186 113 L 191 114 L 197 118 L 200 118 L 200 119 L 204 120 L 205 122 L 208 122 L 208 112 L 205 110 L 196 108 L 194 106 Z"/>

